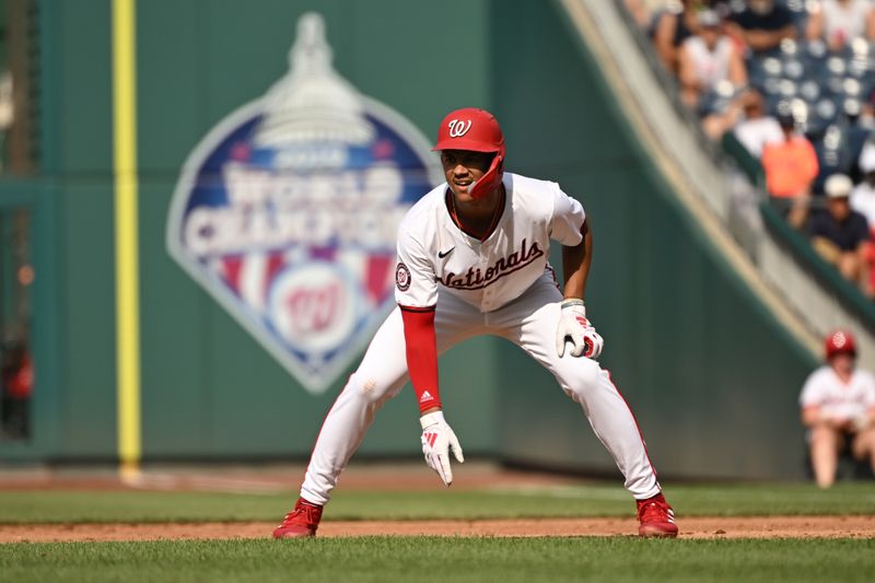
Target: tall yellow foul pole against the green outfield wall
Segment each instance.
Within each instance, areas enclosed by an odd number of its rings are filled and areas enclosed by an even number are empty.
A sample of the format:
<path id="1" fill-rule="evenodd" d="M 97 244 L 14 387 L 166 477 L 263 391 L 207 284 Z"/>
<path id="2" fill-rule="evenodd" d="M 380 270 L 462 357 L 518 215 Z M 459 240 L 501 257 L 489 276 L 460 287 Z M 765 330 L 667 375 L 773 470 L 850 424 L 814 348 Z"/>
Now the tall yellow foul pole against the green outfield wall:
<path id="1" fill-rule="evenodd" d="M 141 457 L 136 11 L 136 0 L 113 0 L 117 425 L 122 479 L 139 475 Z"/>

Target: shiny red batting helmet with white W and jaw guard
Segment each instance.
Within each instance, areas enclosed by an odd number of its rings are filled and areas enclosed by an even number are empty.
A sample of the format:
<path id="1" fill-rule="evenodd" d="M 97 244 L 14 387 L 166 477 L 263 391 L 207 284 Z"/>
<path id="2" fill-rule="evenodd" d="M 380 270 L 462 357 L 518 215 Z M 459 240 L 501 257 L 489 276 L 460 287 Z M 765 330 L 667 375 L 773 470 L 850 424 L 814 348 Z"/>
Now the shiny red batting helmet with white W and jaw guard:
<path id="1" fill-rule="evenodd" d="M 504 173 L 504 135 L 495 116 L 486 109 L 463 107 L 447 114 L 438 129 L 438 143 L 432 150 L 494 152 L 495 158 L 492 159 L 489 170 L 471 186 L 469 193 L 474 198 L 481 198 L 501 184 Z"/>

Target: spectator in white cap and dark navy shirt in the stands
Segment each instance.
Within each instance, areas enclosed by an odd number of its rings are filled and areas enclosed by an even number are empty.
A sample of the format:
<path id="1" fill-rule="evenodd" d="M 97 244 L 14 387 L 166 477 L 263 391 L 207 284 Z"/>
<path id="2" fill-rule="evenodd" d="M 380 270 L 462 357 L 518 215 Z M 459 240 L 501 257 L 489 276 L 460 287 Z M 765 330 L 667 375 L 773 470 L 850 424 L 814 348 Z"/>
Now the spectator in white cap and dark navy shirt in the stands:
<path id="1" fill-rule="evenodd" d="M 824 183 L 826 211 L 812 217 L 808 233 L 817 253 L 839 272 L 860 285 L 866 270 L 868 224 L 865 217 L 851 210 L 851 178 L 833 174 Z"/>

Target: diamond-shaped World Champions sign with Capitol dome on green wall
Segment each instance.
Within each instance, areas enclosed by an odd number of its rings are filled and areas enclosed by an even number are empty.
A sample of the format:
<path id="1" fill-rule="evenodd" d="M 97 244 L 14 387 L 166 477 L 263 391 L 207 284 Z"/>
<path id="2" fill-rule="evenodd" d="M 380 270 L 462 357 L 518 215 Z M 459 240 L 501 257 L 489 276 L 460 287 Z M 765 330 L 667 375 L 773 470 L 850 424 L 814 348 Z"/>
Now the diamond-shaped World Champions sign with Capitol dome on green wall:
<path id="1" fill-rule="evenodd" d="M 289 60 L 189 155 L 167 248 L 318 394 L 394 306 L 398 224 L 442 173 L 409 121 L 334 70 L 322 16 L 301 18 Z"/>

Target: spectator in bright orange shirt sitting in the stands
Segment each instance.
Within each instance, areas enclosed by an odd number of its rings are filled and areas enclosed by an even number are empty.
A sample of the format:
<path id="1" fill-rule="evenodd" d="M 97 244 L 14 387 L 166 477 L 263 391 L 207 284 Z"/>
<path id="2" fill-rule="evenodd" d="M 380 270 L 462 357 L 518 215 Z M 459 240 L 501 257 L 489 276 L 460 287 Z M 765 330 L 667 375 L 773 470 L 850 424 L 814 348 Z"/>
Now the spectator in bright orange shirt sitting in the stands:
<path id="1" fill-rule="evenodd" d="M 762 148 L 762 168 L 766 172 L 766 189 L 788 212 L 788 221 L 802 229 L 808 214 L 812 183 L 817 177 L 819 165 L 812 142 L 796 133 L 792 115 L 779 115 L 781 140 L 766 143 Z"/>

